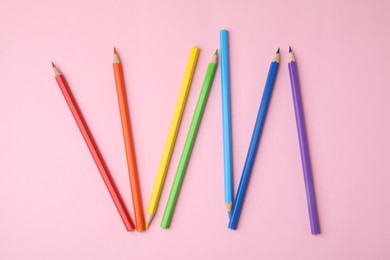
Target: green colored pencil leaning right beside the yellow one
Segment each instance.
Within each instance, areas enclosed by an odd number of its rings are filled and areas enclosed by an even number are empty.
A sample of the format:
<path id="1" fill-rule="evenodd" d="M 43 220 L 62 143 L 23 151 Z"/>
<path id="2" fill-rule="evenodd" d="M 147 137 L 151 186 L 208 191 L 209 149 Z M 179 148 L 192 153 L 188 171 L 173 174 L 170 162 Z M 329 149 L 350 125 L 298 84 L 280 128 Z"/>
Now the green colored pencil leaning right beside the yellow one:
<path id="1" fill-rule="evenodd" d="M 209 66 L 207 68 L 206 76 L 203 81 L 202 90 L 200 91 L 199 94 L 198 103 L 196 104 L 190 129 L 188 130 L 186 142 L 184 143 L 183 152 L 180 157 L 179 165 L 177 166 L 177 171 L 176 171 L 175 179 L 172 184 L 171 193 L 169 194 L 168 202 L 164 211 L 164 216 L 161 221 L 162 228 L 169 228 L 171 224 L 173 211 L 176 206 L 177 198 L 179 197 L 180 188 L 183 183 L 184 174 L 188 166 L 188 161 L 190 160 L 192 148 L 194 147 L 194 142 L 195 142 L 196 134 L 198 133 L 200 120 L 202 119 L 203 111 L 206 106 L 207 98 L 210 93 L 210 88 L 214 80 L 215 71 L 217 69 L 217 55 L 218 55 L 218 50 L 215 51 L 214 56 L 211 59 Z"/>

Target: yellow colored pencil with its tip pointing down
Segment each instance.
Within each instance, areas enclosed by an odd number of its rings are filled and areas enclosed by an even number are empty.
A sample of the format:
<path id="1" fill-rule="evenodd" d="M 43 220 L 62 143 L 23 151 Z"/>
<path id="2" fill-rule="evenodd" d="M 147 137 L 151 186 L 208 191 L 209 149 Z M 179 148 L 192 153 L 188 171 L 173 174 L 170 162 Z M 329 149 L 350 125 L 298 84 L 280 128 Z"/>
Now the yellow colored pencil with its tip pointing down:
<path id="1" fill-rule="evenodd" d="M 149 227 L 149 224 L 152 221 L 157 211 L 158 202 L 160 200 L 160 195 L 161 195 L 162 187 L 164 185 L 165 176 L 168 170 L 169 162 L 171 160 L 173 147 L 175 145 L 181 117 L 183 115 L 184 107 L 187 101 L 187 96 L 191 86 L 192 77 L 194 75 L 196 62 L 198 60 L 198 55 L 199 55 L 199 48 L 192 47 L 190 57 L 187 63 L 186 72 L 184 73 L 183 82 L 181 84 L 179 98 L 177 99 L 175 112 L 173 113 L 171 127 L 169 128 L 167 141 L 165 142 L 165 147 L 161 158 L 160 167 L 158 168 L 156 181 L 154 182 L 152 196 L 150 197 L 148 209 L 146 212 L 146 228 Z"/>

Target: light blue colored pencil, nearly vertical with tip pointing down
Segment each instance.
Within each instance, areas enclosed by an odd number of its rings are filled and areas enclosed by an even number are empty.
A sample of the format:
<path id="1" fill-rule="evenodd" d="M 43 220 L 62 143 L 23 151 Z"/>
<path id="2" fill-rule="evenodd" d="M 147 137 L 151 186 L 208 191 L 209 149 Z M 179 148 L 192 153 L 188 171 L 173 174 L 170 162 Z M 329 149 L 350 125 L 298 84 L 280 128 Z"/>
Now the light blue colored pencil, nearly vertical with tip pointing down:
<path id="1" fill-rule="evenodd" d="M 221 85 L 222 85 L 222 132 L 224 157 L 225 205 L 230 217 L 233 206 L 233 158 L 232 128 L 230 115 L 230 72 L 228 31 L 220 31 Z"/>

